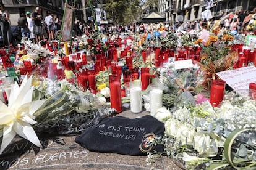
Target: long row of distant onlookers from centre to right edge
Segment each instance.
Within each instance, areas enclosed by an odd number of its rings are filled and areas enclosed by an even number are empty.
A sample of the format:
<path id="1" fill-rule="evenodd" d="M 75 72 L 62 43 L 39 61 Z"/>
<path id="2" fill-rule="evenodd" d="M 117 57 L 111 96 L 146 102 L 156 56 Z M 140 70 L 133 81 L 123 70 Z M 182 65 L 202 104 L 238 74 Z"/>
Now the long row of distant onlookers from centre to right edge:
<path id="1" fill-rule="evenodd" d="M 206 23 L 206 25 L 205 25 Z M 75 22 L 74 36 L 90 34 L 100 31 L 102 34 L 119 34 L 119 33 L 147 33 L 151 30 L 172 30 L 174 32 L 202 31 L 202 24 L 213 33 L 220 31 L 229 31 L 231 34 L 254 34 L 256 35 L 256 7 L 252 11 L 237 10 L 236 12 L 224 12 L 216 20 L 200 19 L 195 21 L 174 22 L 171 23 L 139 23 L 127 25 L 99 25 L 98 30 L 93 24 L 85 24 L 79 21 Z"/>

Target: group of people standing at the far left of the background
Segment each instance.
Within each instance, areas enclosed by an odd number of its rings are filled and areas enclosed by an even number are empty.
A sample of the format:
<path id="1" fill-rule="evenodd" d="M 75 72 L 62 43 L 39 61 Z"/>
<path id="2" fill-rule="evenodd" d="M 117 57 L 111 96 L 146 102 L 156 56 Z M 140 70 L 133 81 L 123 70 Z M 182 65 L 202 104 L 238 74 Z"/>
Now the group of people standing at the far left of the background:
<path id="1" fill-rule="evenodd" d="M 56 14 L 47 12 L 43 17 L 41 8 L 36 7 L 34 12 L 27 11 L 20 14 L 17 20 L 17 26 L 12 30 L 10 25 L 10 14 L 5 6 L 0 2 L 0 46 L 9 47 L 10 44 L 15 46 L 22 38 L 38 43 L 42 40 L 53 40 L 54 33 L 61 29 L 61 19 Z"/>

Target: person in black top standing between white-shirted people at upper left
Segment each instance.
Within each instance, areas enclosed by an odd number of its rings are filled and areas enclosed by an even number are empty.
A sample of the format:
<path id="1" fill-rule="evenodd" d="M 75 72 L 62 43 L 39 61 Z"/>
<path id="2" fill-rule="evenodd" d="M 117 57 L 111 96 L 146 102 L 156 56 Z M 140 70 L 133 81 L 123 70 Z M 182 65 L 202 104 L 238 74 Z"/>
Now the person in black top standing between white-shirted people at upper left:
<path id="1" fill-rule="evenodd" d="M 33 34 L 35 34 L 36 43 L 38 43 L 41 41 L 43 20 L 40 7 L 36 7 L 35 12 L 32 13 L 32 20 L 34 21 Z"/>

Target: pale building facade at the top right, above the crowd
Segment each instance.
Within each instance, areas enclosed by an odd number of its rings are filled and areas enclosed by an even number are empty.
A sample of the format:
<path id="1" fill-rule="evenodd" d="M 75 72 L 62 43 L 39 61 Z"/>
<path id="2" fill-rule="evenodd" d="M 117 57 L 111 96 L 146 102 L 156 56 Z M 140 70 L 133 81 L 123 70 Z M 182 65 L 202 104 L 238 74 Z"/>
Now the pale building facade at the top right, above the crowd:
<path id="1" fill-rule="evenodd" d="M 250 11 L 256 7 L 256 0 L 159 0 L 158 13 L 169 23 L 199 20 L 208 1 L 213 2 L 210 8 L 213 19 L 236 10 Z"/>

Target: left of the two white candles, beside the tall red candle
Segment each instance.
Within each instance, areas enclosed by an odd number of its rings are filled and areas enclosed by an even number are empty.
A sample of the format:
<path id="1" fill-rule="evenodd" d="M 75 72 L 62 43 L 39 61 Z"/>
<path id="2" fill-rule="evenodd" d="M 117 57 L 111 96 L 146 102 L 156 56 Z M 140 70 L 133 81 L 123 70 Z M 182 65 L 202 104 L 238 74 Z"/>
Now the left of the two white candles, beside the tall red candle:
<path id="1" fill-rule="evenodd" d="M 130 87 L 130 111 L 140 113 L 142 111 L 142 88 Z"/>

